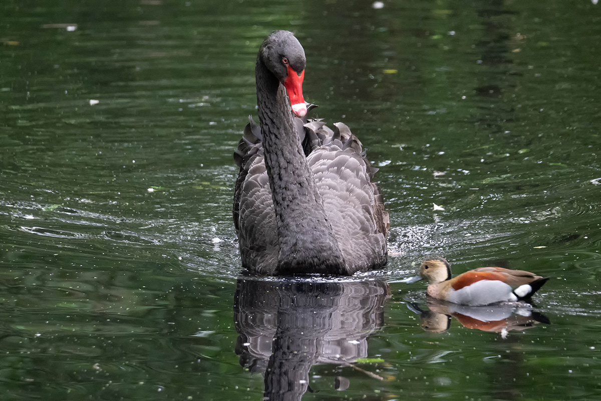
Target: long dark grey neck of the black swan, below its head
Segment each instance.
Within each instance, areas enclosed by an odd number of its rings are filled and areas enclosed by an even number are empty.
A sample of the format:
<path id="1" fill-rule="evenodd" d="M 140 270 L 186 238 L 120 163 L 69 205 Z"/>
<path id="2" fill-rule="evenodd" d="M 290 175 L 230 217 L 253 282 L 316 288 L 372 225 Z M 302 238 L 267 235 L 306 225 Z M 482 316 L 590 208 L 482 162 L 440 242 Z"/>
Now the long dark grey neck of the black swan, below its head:
<path id="1" fill-rule="evenodd" d="M 276 274 L 349 274 L 294 129 L 284 85 L 257 60 L 257 105 L 278 227 Z"/>

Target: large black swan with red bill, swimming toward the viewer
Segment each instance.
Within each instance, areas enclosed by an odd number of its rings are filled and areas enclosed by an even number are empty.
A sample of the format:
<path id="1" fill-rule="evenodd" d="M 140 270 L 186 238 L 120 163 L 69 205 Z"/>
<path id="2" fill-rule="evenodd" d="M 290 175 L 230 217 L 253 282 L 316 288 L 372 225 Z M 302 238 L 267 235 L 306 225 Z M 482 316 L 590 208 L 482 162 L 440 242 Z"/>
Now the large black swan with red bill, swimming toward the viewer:
<path id="1" fill-rule="evenodd" d="M 306 64 L 301 43 L 288 31 L 273 31 L 258 52 L 260 126 L 250 118 L 234 153 L 242 266 L 263 275 L 380 268 L 389 222 L 371 182 L 377 169 L 346 125 L 332 130 L 305 118 L 313 108 L 302 94 Z"/>

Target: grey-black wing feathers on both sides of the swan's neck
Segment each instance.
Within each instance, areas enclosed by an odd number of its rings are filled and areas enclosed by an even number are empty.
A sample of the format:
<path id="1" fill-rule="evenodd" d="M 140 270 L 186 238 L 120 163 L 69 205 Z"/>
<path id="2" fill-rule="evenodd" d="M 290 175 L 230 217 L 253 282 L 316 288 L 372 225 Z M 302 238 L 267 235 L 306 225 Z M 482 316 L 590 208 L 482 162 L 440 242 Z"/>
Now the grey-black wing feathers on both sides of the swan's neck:
<path id="1" fill-rule="evenodd" d="M 316 106 L 307 107 L 311 110 Z M 361 141 L 343 123 L 334 124 L 332 129 L 319 119 L 294 120 L 350 271 L 385 265 L 388 212 L 376 184 L 371 182 L 377 168 L 365 158 Z M 277 263 L 277 226 L 261 129 L 252 118 L 234 152 L 234 160 L 240 167 L 233 215 L 242 264 L 259 273 L 268 272 Z"/>

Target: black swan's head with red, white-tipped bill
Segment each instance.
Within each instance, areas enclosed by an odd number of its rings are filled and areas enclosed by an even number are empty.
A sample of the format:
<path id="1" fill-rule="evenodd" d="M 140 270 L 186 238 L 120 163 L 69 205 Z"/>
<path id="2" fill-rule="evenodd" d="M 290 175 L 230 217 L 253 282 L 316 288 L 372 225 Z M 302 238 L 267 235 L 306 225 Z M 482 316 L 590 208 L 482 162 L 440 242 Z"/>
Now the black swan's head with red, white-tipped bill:
<path id="1" fill-rule="evenodd" d="M 307 59 L 298 39 L 292 32 L 273 31 L 263 41 L 259 55 L 267 69 L 286 88 L 294 114 L 298 117 L 307 114 L 302 94 Z"/>

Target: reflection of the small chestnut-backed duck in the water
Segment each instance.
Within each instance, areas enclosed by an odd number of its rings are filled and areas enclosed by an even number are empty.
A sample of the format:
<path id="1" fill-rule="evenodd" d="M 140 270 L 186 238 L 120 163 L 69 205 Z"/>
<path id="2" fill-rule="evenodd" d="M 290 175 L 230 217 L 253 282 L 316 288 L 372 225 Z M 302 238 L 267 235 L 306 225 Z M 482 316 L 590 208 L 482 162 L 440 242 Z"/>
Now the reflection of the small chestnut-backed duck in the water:
<path id="1" fill-rule="evenodd" d="M 538 323 L 550 324 L 549 319 L 526 302 L 502 302 L 501 304 L 468 306 L 450 304 L 433 298 L 427 299 L 429 310 L 423 310 L 415 302 L 407 307 L 419 314 L 419 323 L 425 331 L 444 332 L 451 327 L 454 317 L 468 329 L 500 332 L 506 338 L 509 331 L 523 331 Z"/>

